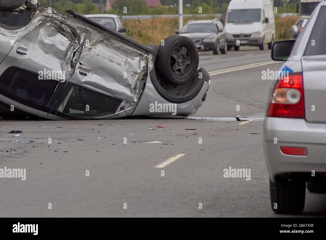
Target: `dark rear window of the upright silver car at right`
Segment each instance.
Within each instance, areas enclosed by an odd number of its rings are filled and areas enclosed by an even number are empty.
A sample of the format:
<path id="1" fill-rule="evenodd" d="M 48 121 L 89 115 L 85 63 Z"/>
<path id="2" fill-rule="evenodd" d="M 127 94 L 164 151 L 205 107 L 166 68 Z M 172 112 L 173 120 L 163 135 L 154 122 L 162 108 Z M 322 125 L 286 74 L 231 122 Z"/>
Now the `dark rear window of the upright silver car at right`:
<path id="1" fill-rule="evenodd" d="M 316 22 L 304 51 L 304 56 L 326 55 L 326 6 L 319 10 Z"/>

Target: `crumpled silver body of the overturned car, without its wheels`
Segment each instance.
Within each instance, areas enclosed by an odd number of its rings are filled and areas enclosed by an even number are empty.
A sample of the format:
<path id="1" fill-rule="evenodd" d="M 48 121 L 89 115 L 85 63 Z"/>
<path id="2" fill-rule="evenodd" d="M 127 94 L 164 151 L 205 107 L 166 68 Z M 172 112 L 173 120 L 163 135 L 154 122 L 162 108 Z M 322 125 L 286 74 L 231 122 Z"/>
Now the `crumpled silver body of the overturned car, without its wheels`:
<path id="1" fill-rule="evenodd" d="M 209 79 L 174 105 L 152 85 L 155 50 L 72 14 L 37 5 L 28 25 L 0 24 L 0 102 L 8 109 L 78 120 L 185 117 L 202 105 Z"/>

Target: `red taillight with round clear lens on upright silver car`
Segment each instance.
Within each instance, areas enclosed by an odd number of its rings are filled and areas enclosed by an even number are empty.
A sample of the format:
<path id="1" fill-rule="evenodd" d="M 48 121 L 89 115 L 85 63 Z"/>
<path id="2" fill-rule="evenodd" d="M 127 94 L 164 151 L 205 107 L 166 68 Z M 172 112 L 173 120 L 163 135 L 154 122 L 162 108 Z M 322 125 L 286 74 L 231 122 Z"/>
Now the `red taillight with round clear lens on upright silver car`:
<path id="1" fill-rule="evenodd" d="M 290 73 L 275 83 L 267 117 L 304 118 L 302 73 Z"/>

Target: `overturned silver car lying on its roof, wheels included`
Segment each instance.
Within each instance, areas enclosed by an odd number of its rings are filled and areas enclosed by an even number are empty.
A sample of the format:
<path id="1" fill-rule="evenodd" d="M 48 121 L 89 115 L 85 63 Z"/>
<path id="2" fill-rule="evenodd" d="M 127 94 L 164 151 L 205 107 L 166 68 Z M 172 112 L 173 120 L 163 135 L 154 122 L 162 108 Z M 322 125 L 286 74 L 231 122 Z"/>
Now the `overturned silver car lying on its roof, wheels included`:
<path id="1" fill-rule="evenodd" d="M 2 113 L 51 120 L 187 117 L 210 85 L 198 64 L 186 37 L 144 46 L 74 11 L 0 1 Z"/>

